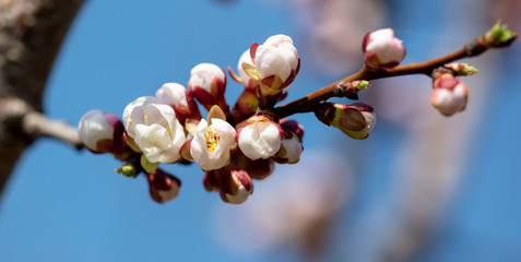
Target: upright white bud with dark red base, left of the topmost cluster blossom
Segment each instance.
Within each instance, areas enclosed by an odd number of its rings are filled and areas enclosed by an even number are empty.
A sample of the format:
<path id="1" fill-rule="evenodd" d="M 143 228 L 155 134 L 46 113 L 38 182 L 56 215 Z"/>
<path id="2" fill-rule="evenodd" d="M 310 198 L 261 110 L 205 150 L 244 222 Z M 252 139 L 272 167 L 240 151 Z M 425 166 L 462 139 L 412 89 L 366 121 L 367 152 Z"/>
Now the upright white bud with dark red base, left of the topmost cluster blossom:
<path id="1" fill-rule="evenodd" d="M 223 110 L 228 108 L 224 99 L 226 90 L 224 70 L 213 63 L 200 63 L 193 67 L 190 74 L 188 86 L 204 108 L 210 110 L 214 105 L 218 105 Z"/>

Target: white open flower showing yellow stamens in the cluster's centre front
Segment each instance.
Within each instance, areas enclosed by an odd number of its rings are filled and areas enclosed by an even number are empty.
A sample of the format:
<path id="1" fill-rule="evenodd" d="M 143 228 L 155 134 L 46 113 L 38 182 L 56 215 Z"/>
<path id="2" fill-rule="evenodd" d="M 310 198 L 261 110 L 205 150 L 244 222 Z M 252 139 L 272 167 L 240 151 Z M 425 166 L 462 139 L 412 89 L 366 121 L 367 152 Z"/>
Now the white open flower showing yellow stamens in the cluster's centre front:
<path id="1" fill-rule="evenodd" d="M 218 119 L 201 119 L 196 135 L 190 143 L 190 155 L 203 170 L 214 170 L 229 163 L 229 151 L 235 142 L 235 129 L 228 122 Z"/>

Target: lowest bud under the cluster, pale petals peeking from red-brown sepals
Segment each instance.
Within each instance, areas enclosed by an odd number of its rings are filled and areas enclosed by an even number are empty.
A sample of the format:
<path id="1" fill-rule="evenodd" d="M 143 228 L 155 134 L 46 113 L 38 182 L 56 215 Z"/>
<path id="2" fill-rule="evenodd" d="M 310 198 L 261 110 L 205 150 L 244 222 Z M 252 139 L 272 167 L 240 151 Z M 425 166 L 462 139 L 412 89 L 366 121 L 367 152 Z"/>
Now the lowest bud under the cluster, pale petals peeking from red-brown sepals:
<path id="1" fill-rule="evenodd" d="M 230 204 L 244 203 L 253 192 L 251 178 L 245 170 L 220 170 L 217 172 L 221 199 Z"/>

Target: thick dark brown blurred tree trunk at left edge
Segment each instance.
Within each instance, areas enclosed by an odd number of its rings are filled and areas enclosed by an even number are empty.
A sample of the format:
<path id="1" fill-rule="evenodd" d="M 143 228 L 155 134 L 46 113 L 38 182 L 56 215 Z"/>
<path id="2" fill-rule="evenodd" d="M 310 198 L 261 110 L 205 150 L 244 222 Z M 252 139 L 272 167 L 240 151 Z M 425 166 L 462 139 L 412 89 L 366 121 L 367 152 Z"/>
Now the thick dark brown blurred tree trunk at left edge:
<path id="1" fill-rule="evenodd" d="M 17 159 L 37 138 L 35 131 L 54 135 L 34 120 L 56 127 L 44 121 L 42 98 L 55 58 L 82 3 L 0 0 L 0 194 Z"/>

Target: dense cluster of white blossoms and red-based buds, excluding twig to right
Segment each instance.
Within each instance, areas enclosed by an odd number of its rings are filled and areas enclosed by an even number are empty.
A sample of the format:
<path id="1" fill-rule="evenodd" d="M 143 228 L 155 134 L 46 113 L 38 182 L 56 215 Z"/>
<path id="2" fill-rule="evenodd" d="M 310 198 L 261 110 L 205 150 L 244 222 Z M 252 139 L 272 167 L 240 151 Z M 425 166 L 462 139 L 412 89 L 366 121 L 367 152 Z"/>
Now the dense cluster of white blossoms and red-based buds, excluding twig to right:
<path id="1" fill-rule="evenodd" d="M 200 63 L 190 72 L 188 88 L 165 83 L 155 96 L 131 102 L 122 120 L 99 110 L 87 112 L 80 121 L 80 134 L 95 153 L 117 150 L 126 162 L 118 172 L 129 177 L 144 172 L 150 194 L 159 203 L 174 199 L 180 187 L 178 178 L 158 168 L 159 163 L 196 163 L 205 172 L 206 190 L 217 191 L 227 203 L 242 203 L 252 193 L 252 179 L 270 176 L 275 163 L 300 159 L 304 128 L 270 111 L 286 96 L 299 66 L 292 38 L 275 35 L 251 45 L 239 59 L 238 74 L 228 69 L 244 85 L 232 110 L 224 96 L 225 71 Z M 208 110 L 205 118 L 198 104 Z"/>

